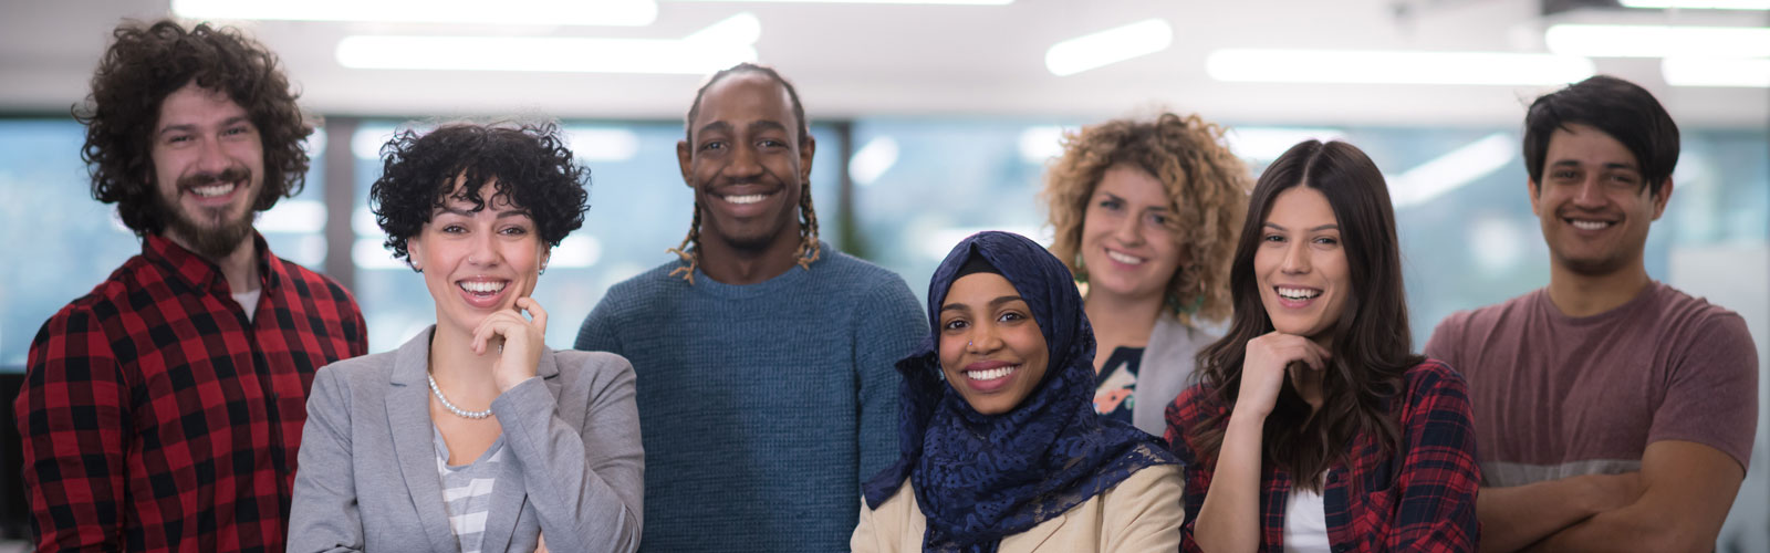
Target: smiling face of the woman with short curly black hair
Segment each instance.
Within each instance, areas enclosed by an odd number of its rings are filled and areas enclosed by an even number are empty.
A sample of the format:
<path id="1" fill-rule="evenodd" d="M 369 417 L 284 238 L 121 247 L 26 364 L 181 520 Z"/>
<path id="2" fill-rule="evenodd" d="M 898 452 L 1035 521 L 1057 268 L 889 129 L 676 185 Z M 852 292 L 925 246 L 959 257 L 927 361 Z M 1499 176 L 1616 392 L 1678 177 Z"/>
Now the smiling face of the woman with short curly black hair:
<path id="1" fill-rule="evenodd" d="M 547 245 L 527 209 L 496 195 L 496 181 L 480 186 L 485 209 L 457 188 L 430 214 L 418 236 L 407 241 L 414 268 L 423 269 L 425 287 L 437 305 L 437 326 L 471 333 L 485 315 L 515 308 L 517 298 L 535 292 Z"/>

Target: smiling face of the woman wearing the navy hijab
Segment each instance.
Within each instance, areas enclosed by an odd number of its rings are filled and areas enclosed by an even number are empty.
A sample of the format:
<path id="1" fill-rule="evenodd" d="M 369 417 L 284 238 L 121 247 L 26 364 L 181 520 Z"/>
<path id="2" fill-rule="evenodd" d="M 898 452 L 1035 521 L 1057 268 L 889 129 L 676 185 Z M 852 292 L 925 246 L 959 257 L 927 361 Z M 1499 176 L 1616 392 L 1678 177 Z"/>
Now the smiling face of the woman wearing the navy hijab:
<path id="1" fill-rule="evenodd" d="M 940 370 L 984 415 L 1020 406 L 1050 362 L 1044 335 L 1014 285 L 997 273 L 959 276 L 940 305 Z"/>

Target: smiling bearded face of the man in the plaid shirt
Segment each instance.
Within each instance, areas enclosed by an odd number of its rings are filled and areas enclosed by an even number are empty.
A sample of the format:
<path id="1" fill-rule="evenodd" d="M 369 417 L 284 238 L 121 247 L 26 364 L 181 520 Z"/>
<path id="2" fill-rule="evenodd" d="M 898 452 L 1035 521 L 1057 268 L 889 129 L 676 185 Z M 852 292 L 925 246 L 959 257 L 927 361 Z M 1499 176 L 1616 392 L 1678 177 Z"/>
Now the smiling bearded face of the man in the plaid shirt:
<path id="1" fill-rule="evenodd" d="M 239 248 L 264 190 L 264 144 L 246 110 L 191 82 L 159 103 L 149 140 L 166 238 L 205 257 Z"/>

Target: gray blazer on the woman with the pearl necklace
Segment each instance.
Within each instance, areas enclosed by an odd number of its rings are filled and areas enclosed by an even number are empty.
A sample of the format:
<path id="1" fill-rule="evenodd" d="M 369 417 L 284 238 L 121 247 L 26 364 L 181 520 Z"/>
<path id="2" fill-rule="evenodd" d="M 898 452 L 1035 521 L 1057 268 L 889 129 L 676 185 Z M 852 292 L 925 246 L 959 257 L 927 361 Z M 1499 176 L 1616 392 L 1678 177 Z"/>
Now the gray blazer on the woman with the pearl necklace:
<path id="1" fill-rule="evenodd" d="M 430 333 L 313 376 L 289 551 L 460 551 L 432 443 Z M 542 349 L 492 401 L 504 447 L 483 551 L 634 551 L 644 452 L 634 369 L 612 353 Z"/>

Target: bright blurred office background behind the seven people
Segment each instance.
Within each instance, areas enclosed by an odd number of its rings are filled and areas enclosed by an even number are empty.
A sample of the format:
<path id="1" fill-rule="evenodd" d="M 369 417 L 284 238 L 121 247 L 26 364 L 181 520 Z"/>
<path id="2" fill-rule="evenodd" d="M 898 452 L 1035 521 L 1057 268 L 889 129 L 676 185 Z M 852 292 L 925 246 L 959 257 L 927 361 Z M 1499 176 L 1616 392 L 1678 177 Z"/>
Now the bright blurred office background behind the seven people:
<path id="1" fill-rule="evenodd" d="M 494 7 L 496 5 L 496 7 Z M 917 294 L 974 230 L 1050 238 L 1035 193 L 1060 136 L 1161 108 L 1227 126 L 1258 172 L 1340 138 L 1386 172 L 1425 344 L 1460 308 L 1547 282 L 1519 154 L 1524 106 L 1593 73 L 1628 78 L 1683 131 L 1648 273 L 1745 315 L 1770 386 L 1770 0 L 0 0 L 0 397 L 32 337 L 140 245 L 92 200 L 67 115 L 124 18 L 246 28 L 324 119 L 306 190 L 258 220 L 273 252 L 356 292 L 370 349 L 434 319 L 368 213 L 393 131 L 559 119 L 591 211 L 536 298 L 572 344 L 609 285 L 667 262 L 690 191 L 674 158 L 701 78 L 738 60 L 795 80 L 818 138 L 823 236 Z M 1759 390 L 1759 397 L 1770 393 Z M 0 537 L 19 537 L 11 402 Z M 1770 551 L 1766 431 L 1720 551 Z"/>

